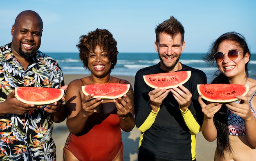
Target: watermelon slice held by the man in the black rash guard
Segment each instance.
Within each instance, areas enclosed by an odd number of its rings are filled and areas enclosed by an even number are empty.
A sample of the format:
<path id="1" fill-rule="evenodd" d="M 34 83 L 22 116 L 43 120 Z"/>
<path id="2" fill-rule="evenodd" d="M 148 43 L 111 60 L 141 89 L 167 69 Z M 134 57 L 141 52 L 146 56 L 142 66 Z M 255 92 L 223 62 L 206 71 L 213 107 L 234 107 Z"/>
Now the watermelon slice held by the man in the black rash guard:
<path id="1" fill-rule="evenodd" d="M 170 89 L 186 83 L 191 76 L 191 71 L 177 71 L 143 75 L 143 79 L 152 88 Z"/>

